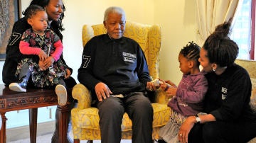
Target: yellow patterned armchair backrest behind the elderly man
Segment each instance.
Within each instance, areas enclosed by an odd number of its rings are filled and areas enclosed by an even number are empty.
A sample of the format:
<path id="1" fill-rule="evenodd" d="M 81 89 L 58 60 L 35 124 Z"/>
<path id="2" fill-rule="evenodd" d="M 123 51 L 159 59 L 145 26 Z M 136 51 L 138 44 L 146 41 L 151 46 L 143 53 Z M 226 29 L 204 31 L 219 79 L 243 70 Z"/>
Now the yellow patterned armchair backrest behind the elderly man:
<path id="1" fill-rule="evenodd" d="M 161 48 L 161 28 L 159 25 L 146 25 L 127 21 L 124 36 L 139 43 L 146 56 L 149 74 L 153 79 L 159 78 L 159 52 Z M 103 23 L 97 25 L 83 25 L 82 45 L 95 35 L 107 33 Z"/>

